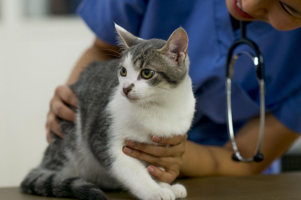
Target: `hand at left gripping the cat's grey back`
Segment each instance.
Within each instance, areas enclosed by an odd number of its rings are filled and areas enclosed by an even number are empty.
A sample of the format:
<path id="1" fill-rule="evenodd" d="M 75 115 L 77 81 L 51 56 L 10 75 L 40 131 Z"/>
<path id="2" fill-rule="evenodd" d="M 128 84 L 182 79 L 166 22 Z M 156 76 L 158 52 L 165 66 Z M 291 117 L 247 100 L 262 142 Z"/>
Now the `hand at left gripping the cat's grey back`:
<path id="1" fill-rule="evenodd" d="M 75 112 L 68 108 L 67 105 L 72 105 L 76 108 L 77 97 L 69 88 L 69 86 L 58 86 L 55 89 L 54 96 L 50 101 L 50 110 L 47 115 L 46 138 L 48 143 L 51 142 L 51 132 L 63 138 L 63 134 L 61 133 L 59 124 L 57 122 L 57 117 L 72 122 L 75 120 Z"/>

